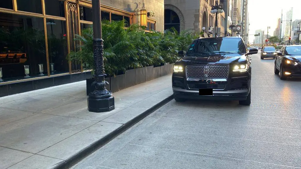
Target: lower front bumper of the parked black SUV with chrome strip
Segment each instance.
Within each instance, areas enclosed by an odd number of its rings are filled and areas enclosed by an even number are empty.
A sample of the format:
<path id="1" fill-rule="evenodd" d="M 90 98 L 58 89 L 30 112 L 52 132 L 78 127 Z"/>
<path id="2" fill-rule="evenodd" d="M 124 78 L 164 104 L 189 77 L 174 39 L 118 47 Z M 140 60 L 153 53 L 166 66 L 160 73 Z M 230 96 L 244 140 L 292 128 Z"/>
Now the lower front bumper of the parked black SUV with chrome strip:
<path id="1" fill-rule="evenodd" d="M 246 100 L 249 95 L 249 90 L 234 90 L 234 91 L 216 91 L 213 90 L 213 96 L 200 96 L 198 90 L 186 90 L 172 88 L 174 97 L 183 99 L 202 99 L 202 100 Z"/>

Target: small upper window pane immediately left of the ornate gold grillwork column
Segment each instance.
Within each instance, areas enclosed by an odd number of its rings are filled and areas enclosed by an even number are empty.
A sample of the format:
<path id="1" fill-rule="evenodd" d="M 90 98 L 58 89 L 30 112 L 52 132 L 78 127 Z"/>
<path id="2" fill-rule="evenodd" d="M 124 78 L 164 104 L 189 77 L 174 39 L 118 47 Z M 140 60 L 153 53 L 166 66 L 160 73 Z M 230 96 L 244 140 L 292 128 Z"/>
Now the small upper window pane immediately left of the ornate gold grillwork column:
<path id="1" fill-rule="evenodd" d="M 65 5 L 63 1 L 59 0 L 44 0 L 45 14 L 57 17 L 65 17 Z"/>

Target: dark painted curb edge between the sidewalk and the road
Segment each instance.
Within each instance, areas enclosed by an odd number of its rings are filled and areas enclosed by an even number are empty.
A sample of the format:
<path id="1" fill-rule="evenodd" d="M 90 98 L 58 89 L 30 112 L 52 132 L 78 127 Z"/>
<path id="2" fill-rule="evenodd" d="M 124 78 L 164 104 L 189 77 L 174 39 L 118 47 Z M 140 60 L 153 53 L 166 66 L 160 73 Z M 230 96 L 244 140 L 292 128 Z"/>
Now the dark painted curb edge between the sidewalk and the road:
<path id="1" fill-rule="evenodd" d="M 134 124 L 138 123 L 139 121 L 141 121 L 142 119 L 144 119 L 145 117 L 147 117 L 148 115 L 150 115 L 151 113 L 153 113 L 154 111 L 156 111 L 157 109 L 159 109 L 160 107 L 162 107 L 163 105 L 165 105 L 166 103 L 171 101 L 173 98 L 174 97 L 172 94 L 171 96 L 165 98 L 161 102 L 152 106 L 150 109 L 147 109 L 146 111 L 144 111 L 140 115 L 136 116 L 132 120 L 123 124 L 118 129 L 112 131 L 111 133 L 107 134 L 100 140 L 92 143 L 90 146 L 88 146 L 85 149 L 82 149 L 78 153 L 74 154 L 67 160 L 58 163 L 57 166 L 53 167 L 52 169 L 68 169 L 68 168 L 72 167 L 73 165 L 77 164 L 79 161 L 81 161 L 88 155 L 92 154 L 93 152 L 95 152 L 96 150 L 100 149 L 102 146 L 104 146 L 105 144 L 107 144 L 108 142 L 113 140 L 115 137 L 119 136 L 119 134 L 122 134 L 124 131 L 126 131 L 127 129 L 132 127 Z"/>

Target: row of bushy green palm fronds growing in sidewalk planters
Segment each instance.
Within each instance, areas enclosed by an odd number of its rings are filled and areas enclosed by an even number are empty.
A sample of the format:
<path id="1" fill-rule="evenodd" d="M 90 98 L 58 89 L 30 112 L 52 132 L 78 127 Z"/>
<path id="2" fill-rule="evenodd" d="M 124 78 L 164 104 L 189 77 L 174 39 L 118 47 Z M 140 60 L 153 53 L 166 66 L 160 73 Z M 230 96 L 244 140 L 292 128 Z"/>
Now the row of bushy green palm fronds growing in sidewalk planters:
<path id="1" fill-rule="evenodd" d="M 174 63 L 179 59 L 178 51 L 186 51 L 191 42 L 198 38 L 188 30 L 178 33 L 172 28 L 163 34 L 155 31 L 145 32 L 143 27 L 137 24 L 127 29 L 124 27 L 124 21 L 102 22 L 105 72 L 110 76 L 127 69 Z M 82 30 L 75 40 L 80 42 L 77 46 L 80 50 L 71 52 L 68 59 L 82 61 L 85 69 L 94 70 L 93 27 Z"/>

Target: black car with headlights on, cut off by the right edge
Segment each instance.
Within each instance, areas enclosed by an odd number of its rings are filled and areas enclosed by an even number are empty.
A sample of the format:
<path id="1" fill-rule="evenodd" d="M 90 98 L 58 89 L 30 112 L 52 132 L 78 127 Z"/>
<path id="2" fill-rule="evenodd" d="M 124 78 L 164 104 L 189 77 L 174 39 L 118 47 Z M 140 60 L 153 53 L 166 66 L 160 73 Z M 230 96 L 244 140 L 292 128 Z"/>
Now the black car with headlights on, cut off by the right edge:
<path id="1" fill-rule="evenodd" d="M 301 45 L 287 45 L 281 48 L 277 54 L 274 66 L 275 74 L 280 79 L 301 76 Z"/>

